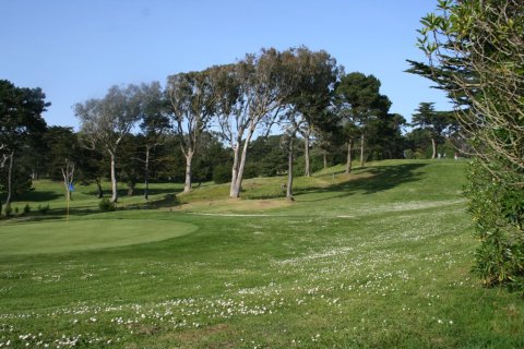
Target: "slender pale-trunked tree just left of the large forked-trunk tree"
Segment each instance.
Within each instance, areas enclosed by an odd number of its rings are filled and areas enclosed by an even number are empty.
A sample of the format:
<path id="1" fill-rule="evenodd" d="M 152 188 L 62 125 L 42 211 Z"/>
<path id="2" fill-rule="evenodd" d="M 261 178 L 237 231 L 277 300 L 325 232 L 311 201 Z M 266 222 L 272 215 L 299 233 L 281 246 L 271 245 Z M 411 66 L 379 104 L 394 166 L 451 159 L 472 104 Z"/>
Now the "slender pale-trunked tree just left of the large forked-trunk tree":
<path id="1" fill-rule="evenodd" d="M 170 75 L 166 91 L 169 113 L 186 157 L 183 192 L 190 192 L 193 156 L 202 133 L 209 128 L 214 116 L 216 92 L 210 71 Z"/>

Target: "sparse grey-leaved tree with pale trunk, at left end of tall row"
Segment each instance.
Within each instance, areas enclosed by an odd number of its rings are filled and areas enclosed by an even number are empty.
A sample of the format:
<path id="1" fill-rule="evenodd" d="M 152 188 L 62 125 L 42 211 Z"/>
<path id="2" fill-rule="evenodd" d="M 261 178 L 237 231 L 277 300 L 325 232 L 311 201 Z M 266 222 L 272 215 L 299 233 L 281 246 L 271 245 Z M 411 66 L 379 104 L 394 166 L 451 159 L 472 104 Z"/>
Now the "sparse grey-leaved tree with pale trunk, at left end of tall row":
<path id="1" fill-rule="evenodd" d="M 74 106 L 81 135 L 87 147 L 100 146 L 110 157 L 111 202 L 118 201 L 116 163 L 118 148 L 142 115 L 140 87 L 112 86 L 102 99 L 88 99 Z"/>

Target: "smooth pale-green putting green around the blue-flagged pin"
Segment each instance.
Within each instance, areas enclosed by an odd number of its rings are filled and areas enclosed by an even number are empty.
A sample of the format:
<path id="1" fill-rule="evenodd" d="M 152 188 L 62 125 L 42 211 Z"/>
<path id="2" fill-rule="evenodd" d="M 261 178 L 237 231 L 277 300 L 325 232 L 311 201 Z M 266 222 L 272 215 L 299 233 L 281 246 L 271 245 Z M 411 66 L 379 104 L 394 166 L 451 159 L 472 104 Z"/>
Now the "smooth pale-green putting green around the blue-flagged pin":
<path id="1" fill-rule="evenodd" d="M 90 219 L 7 225 L 0 255 L 56 253 L 123 246 L 188 234 L 196 226 L 153 219 Z"/>

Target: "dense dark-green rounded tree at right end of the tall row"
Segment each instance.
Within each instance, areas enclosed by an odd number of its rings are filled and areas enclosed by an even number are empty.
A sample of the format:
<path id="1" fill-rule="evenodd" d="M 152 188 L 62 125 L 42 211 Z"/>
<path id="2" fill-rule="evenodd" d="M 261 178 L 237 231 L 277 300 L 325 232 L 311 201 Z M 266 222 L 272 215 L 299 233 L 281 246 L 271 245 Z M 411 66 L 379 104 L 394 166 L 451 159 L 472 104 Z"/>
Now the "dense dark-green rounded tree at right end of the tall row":
<path id="1" fill-rule="evenodd" d="M 380 94 L 380 81 L 377 77 L 359 72 L 342 76 L 336 93 L 345 109 L 344 119 L 358 128 L 360 134 L 360 166 L 364 166 L 366 127 L 370 119 L 388 113 L 391 101 L 386 96 Z M 354 133 L 350 132 L 350 134 Z M 348 140 L 348 143 L 353 142 L 353 139 Z"/>

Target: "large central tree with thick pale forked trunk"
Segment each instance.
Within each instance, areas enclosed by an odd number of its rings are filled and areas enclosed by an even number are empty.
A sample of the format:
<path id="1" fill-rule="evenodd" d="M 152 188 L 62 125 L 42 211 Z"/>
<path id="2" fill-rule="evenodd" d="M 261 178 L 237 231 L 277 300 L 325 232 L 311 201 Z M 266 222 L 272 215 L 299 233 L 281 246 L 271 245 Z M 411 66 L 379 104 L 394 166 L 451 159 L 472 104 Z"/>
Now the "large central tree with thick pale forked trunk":
<path id="1" fill-rule="evenodd" d="M 282 53 L 262 49 L 235 64 L 215 67 L 217 119 L 221 134 L 233 149 L 230 197 L 239 197 L 249 144 L 263 134 L 284 109 L 279 84 Z"/>

